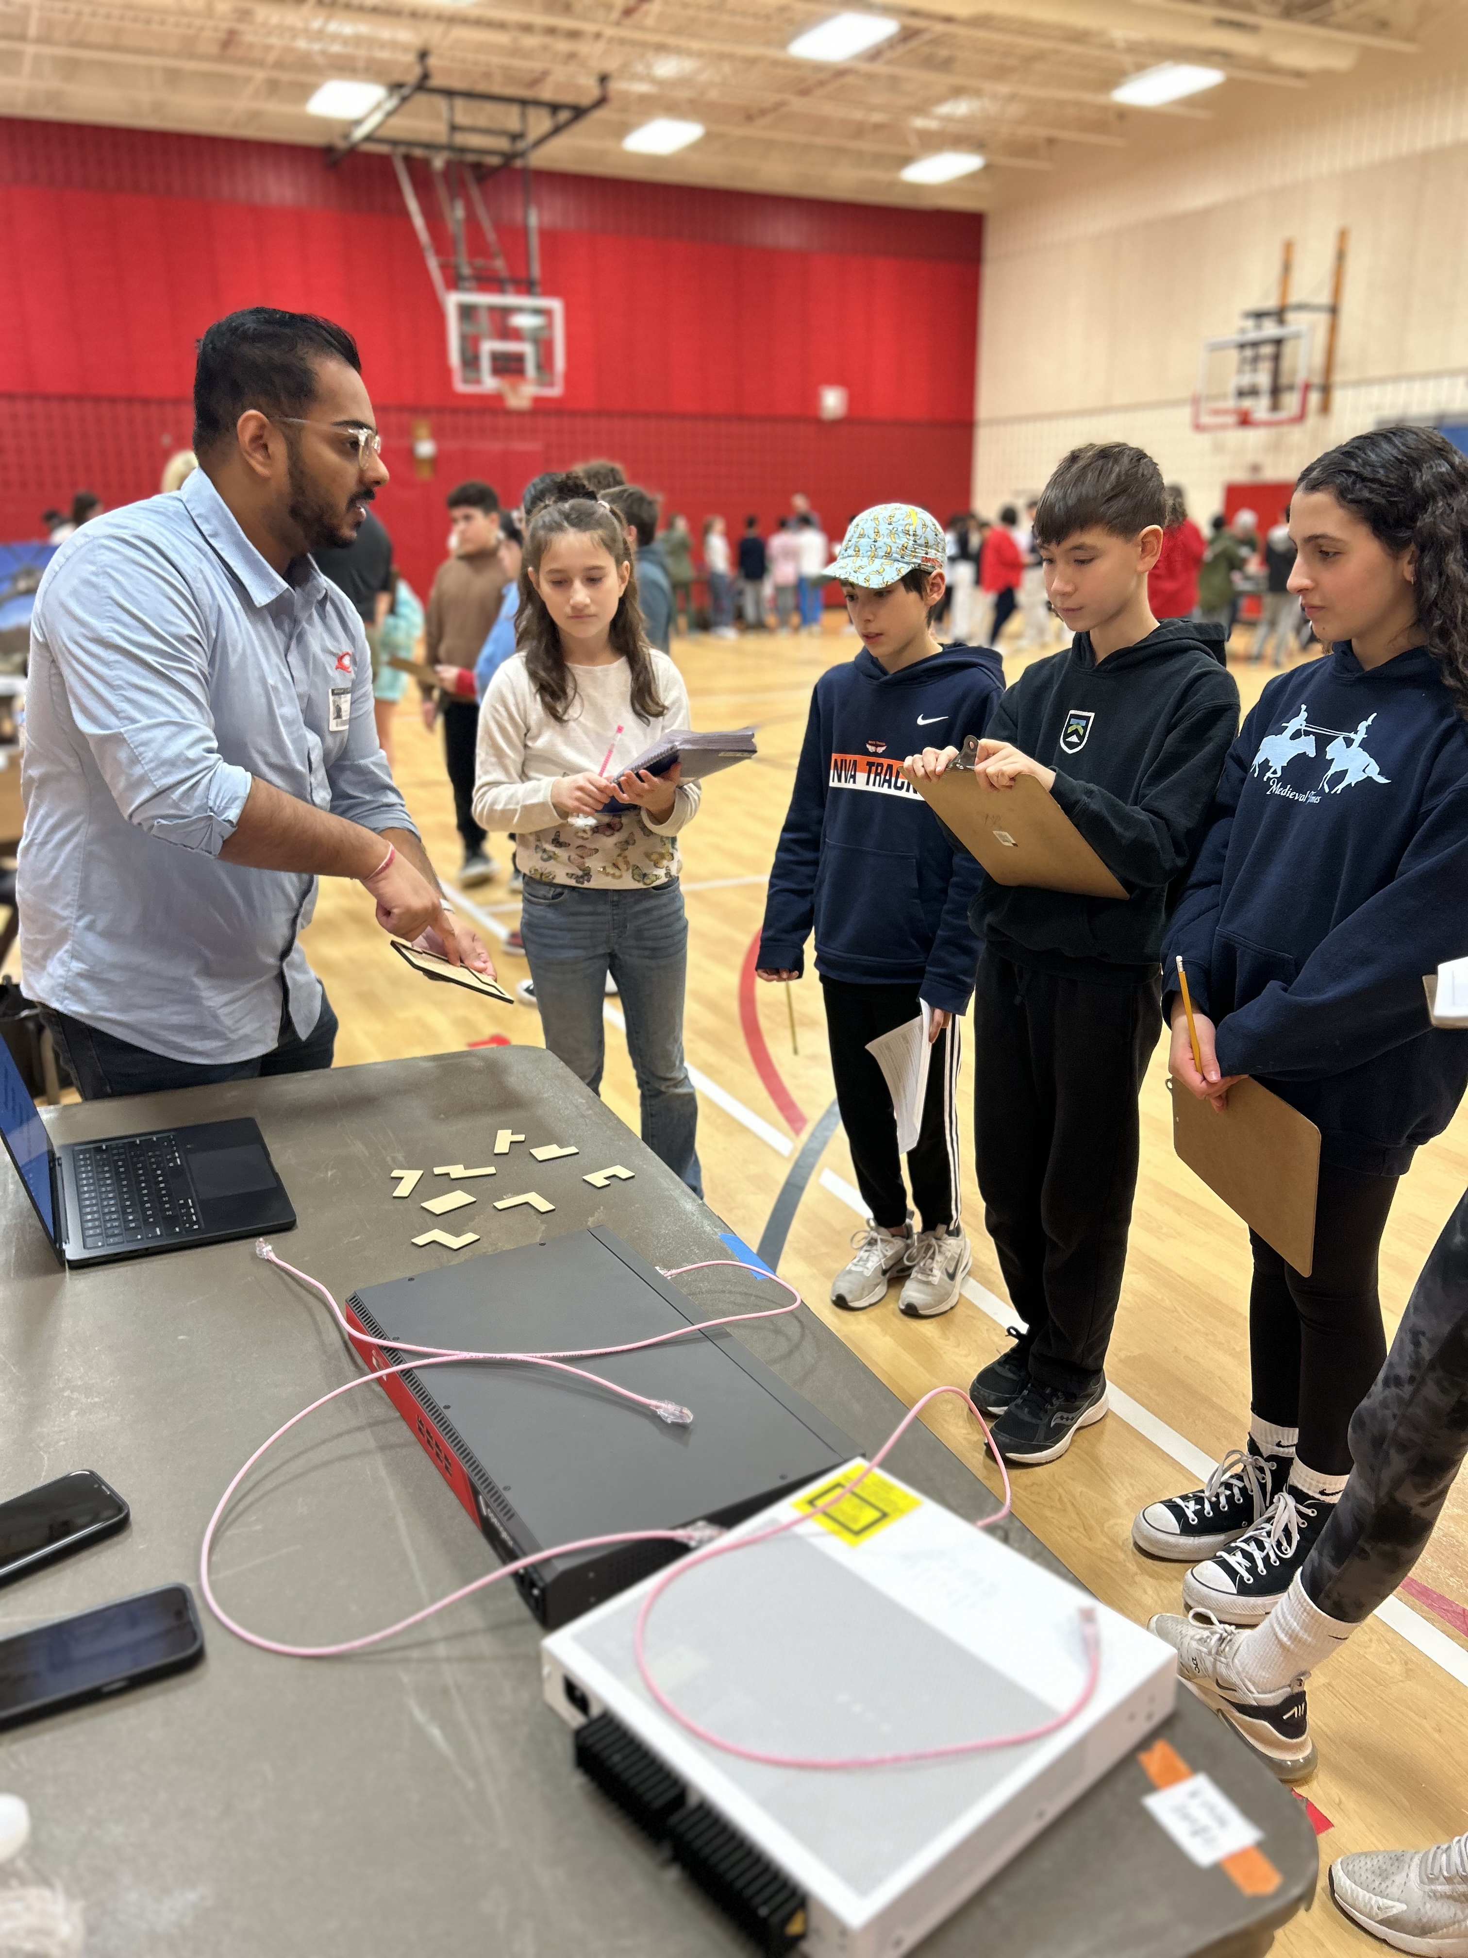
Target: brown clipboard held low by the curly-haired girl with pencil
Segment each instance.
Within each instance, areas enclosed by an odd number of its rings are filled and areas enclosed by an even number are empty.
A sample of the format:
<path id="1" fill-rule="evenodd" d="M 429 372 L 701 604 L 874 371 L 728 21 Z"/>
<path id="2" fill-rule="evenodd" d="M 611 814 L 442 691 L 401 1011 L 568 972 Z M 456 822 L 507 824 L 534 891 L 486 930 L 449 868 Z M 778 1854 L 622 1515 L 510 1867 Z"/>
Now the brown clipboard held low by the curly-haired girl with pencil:
<path id="1" fill-rule="evenodd" d="M 1319 1190 L 1315 1124 L 1249 1077 L 1233 1083 L 1221 1114 L 1176 1081 L 1169 1081 L 1169 1089 L 1178 1157 L 1307 1279 L 1315 1261 Z"/>

